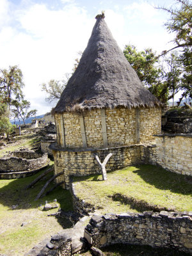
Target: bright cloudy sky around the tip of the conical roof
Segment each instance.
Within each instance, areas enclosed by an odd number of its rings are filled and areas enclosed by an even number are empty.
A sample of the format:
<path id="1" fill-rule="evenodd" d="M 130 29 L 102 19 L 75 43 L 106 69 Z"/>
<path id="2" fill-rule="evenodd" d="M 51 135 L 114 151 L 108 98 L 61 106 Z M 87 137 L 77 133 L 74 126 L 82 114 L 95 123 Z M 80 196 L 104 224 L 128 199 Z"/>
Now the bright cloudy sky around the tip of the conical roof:
<path id="1" fill-rule="evenodd" d="M 174 0 L 0 0 L 0 68 L 18 65 L 24 77 L 25 99 L 37 115 L 56 106 L 45 101 L 40 84 L 61 80 L 72 72 L 78 52 L 84 51 L 95 24 L 105 11 L 113 37 L 124 49 L 170 49 L 173 34 L 164 22 L 169 15 L 154 6 Z"/>

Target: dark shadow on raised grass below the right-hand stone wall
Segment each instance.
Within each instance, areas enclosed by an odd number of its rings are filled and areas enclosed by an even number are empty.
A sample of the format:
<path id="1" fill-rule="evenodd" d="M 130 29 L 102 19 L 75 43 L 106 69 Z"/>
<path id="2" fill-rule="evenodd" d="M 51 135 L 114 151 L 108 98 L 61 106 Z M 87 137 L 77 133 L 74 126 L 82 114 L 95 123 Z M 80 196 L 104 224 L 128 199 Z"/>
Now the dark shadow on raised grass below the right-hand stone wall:
<path id="1" fill-rule="evenodd" d="M 136 166 L 138 170 L 133 171 L 145 180 L 146 183 L 158 189 L 170 190 L 173 193 L 192 195 L 192 186 L 186 175 L 181 175 L 164 170 L 159 166 L 143 164 Z"/>

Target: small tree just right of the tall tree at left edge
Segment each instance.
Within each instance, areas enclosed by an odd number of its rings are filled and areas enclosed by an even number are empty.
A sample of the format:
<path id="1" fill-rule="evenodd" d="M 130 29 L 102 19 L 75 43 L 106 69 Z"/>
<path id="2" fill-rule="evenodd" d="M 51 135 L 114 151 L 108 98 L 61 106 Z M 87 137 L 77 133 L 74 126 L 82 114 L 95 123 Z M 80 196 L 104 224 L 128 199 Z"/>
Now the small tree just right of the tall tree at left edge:
<path id="1" fill-rule="evenodd" d="M 21 100 L 20 102 L 17 100 L 14 100 L 12 104 L 14 106 L 14 108 L 12 109 L 12 112 L 15 114 L 15 117 L 21 118 L 24 124 L 26 124 L 25 123 L 26 118 L 36 115 L 36 109 L 32 109 L 29 111 L 31 104 L 28 100 Z"/>

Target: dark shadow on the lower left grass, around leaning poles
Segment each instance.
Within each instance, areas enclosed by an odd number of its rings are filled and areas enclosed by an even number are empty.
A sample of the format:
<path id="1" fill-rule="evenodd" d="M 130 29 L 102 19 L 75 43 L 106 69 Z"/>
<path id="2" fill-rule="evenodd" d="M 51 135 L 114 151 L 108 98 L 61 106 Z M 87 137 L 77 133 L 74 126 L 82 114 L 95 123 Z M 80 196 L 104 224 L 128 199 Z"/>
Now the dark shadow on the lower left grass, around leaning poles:
<path id="1" fill-rule="evenodd" d="M 50 166 L 48 168 L 50 168 Z M 15 209 L 32 209 L 39 207 L 39 205 L 44 205 L 45 201 L 52 202 L 54 199 L 57 199 L 63 211 L 72 211 L 72 196 L 70 195 L 70 191 L 61 187 L 54 189 L 43 198 L 34 201 L 45 185 L 45 182 L 52 177 L 53 172 L 38 181 L 34 187 L 26 189 L 26 186 L 35 180 L 42 172 L 45 172 L 45 170 L 46 168 L 35 175 L 22 179 L 0 180 L 0 204 L 9 207 L 8 211 L 14 211 L 13 205 L 16 205 Z M 53 186 L 54 183 L 51 182 L 45 192 Z M 60 218 L 58 218 L 58 222 L 60 223 Z"/>

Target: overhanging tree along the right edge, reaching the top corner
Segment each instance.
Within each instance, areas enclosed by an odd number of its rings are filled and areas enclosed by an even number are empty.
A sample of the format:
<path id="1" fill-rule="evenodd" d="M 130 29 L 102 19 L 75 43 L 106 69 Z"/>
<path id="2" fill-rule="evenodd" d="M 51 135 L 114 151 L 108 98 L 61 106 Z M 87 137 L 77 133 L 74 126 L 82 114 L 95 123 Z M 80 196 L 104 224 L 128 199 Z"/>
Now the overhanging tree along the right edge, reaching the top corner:
<path id="1" fill-rule="evenodd" d="M 182 77 L 182 96 L 180 101 L 184 97 L 192 99 L 192 4 L 189 0 L 177 0 L 174 6 L 170 8 L 157 7 L 157 9 L 164 10 L 170 13 L 170 19 L 164 24 L 169 33 L 173 33 L 175 38 L 173 40 L 175 47 L 163 51 L 162 56 L 167 54 L 173 49 L 179 49 L 180 65 L 183 65 L 183 77 Z"/>

